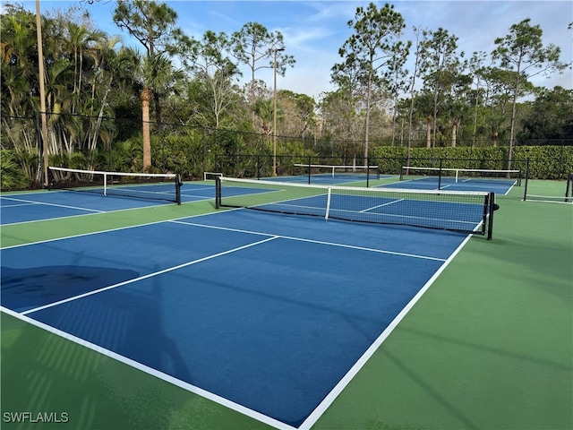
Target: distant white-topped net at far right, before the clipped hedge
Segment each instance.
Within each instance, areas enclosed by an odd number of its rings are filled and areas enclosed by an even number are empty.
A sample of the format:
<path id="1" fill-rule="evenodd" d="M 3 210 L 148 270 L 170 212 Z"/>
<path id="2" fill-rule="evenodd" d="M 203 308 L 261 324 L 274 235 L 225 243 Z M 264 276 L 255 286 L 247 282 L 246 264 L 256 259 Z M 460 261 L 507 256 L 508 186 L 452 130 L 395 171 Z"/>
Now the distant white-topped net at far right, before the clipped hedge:
<path id="1" fill-rule="evenodd" d="M 487 168 L 425 168 L 404 166 L 400 180 L 431 180 L 441 185 L 472 182 L 476 185 L 521 185 L 521 170 Z"/>

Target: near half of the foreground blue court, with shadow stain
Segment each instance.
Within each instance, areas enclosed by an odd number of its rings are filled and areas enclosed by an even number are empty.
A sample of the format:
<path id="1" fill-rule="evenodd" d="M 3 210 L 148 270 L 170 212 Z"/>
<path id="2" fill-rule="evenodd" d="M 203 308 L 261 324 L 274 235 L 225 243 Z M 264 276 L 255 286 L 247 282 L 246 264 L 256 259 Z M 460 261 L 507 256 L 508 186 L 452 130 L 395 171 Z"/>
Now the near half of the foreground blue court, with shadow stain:
<path id="1" fill-rule="evenodd" d="M 465 239 L 221 211 L 4 248 L 2 306 L 271 426 L 310 427 Z"/>

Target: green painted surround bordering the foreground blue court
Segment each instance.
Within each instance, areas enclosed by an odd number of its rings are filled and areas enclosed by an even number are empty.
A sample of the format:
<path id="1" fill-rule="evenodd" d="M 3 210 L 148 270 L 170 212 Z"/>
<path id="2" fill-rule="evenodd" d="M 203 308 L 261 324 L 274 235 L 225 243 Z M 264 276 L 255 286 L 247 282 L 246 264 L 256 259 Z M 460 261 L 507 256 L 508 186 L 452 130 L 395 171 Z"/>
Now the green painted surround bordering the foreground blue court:
<path id="1" fill-rule="evenodd" d="M 557 193 L 564 183 L 535 186 Z M 498 202 L 493 240 L 468 242 L 314 428 L 571 428 L 573 205 Z M 212 208 L 196 202 L 7 226 L 2 245 Z M 265 427 L 10 314 L 1 324 L 2 417 L 68 416 L 44 426 L 3 419 L 2 428 Z"/>

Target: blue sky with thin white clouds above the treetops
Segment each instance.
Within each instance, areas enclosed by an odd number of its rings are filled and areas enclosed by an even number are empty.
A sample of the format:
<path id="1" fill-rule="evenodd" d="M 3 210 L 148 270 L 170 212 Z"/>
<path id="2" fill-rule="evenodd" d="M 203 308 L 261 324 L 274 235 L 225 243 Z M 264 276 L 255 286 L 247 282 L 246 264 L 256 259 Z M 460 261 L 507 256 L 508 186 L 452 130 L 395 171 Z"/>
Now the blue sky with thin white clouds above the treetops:
<path id="1" fill-rule="evenodd" d="M 5 0 L 2 0 L 4 3 Z M 35 2 L 26 0 L 30 10 Z M 333 90 L 330 69 L 340 62 L 338 49 L 352 34 L 347 22 L 355 17 L 356 7 L 369 1 L 167 1 L 178 14 L 178 25 L 188 35 L 201 38 L 206 30 L 231 34 L 241 30 L 247 22 L 259 22 L 268 30 L 280 31 L 284 36 L 286 54 L 295 56 L 294 68 L 278 77 L 278 89 L 293 90 L 318 98 L 323 91 Z M 381 8 L 386 2 L 374 2 Z M 571 1 L 394 1 L 395 10 L 406 22 L 404 39 L 414 40 L 412 27 L 428 30 L 442 27 L 458 37 L 459 50 L 471 56 L 474 51 L 488 54 L 494 48 L 493 40 L 509 34 L 512 24 L 531 18 L 543 30 L 543 45 L 553 43 L 561 48 L 561 60 L 573 61 L 573 2 Z M 69 1 L 40 0 L 42 13 L 51 9 L 67 9 Z M 100 30 L 120 35 L 124 44 L 135 42 L 112 22 L 115 0 L 99 0 L 86 4 L 92 19 Z M 263 70 L 258 79 L 272 88 L 272 70 Z M 244 80 L 249 74 L 244 74 Z M 560 85 L 573 89 L 570 69 L 551 79 L 536 76 L 535 85 L 552 88 Z"/>

